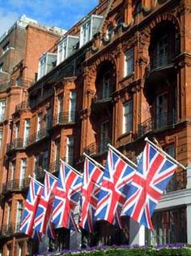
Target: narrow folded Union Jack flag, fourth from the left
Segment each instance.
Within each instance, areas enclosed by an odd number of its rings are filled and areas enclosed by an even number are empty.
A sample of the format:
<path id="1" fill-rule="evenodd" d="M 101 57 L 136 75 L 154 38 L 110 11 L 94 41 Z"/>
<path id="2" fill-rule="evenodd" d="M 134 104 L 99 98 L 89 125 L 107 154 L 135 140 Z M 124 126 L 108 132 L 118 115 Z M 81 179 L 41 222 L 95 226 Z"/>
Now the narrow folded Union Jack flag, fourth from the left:
<path id="1" fill-rule="evenodd" d="M 80 197 L 80 221 L 79 226 L 94 232 L 95 211 L 98 202 L 98 193 L 100 192 L 100 181 L 103 176 L 101 171 L 88 158 L 85 158 L 83 170 L 83 186 Z"/>

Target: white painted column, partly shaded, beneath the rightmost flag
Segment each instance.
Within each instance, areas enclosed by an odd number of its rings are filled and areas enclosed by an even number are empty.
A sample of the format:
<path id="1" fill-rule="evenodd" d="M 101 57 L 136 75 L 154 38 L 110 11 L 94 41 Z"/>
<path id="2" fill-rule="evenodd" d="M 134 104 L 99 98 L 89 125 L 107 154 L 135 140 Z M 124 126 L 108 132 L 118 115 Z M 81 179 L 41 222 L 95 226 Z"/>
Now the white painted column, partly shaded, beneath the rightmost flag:
<path id="1" fill-rule="evenodd" d="M 145 227 L 134 221 L 129 220 L 129 244 L 145 245 Z"/>

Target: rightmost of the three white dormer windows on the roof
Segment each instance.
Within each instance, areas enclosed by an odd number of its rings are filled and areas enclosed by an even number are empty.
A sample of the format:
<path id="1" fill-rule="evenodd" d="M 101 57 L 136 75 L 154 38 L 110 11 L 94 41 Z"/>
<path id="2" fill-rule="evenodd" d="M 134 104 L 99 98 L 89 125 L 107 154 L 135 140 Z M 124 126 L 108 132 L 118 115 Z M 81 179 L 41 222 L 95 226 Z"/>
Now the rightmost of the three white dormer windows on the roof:
<path id="1" fill-rule="evenodd" d="M 85 20 L 81 26 L 80 31 L 80 46 L 84 46 L 91 38 L 98 32 L 103 17 L 98 15 L 91 15 Z"/>

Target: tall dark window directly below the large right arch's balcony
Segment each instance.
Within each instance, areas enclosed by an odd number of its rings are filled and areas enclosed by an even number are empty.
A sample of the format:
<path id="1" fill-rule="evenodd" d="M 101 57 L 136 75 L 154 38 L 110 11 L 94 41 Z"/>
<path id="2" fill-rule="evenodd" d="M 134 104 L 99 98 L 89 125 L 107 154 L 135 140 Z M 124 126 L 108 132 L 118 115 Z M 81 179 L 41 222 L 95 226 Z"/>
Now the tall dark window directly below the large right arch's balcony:
<path id="1" fill-rule="evenodd" d="M 168 93 L 162 93 L 156 98 L 156 128 L 168 124 Z"/>

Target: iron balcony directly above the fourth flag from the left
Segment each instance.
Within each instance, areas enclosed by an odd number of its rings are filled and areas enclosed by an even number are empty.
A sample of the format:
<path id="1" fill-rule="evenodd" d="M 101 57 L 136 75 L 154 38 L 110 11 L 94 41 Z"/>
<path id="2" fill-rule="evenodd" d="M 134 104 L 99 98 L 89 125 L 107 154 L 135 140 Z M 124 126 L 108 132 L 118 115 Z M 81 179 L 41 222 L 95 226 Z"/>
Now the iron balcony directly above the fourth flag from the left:
<path id="1" fill-rule="evenodd" d="M 111 139 L 108 138 L 106 140 L 100 141 L 100 143 L 91 143 L 84 149 L 84 152 L 88 155 L 96 155 L 96 154 L 104 154 L 108 151 L 108 143 L 111 143 Z"/>

